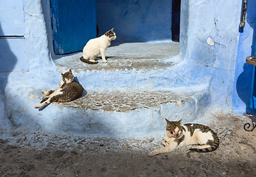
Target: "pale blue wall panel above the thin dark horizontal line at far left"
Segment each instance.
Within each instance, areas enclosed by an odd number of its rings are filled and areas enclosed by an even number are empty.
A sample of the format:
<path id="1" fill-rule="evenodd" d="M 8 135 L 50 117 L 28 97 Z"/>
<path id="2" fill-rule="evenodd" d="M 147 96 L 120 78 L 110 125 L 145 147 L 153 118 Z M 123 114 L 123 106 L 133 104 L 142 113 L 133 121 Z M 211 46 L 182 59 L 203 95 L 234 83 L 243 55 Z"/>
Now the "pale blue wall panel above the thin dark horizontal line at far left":
<path id="1" fill-rule="evenodd" d="M 0 35 L 24 36 L 23 1 L 0 0 Z"/>

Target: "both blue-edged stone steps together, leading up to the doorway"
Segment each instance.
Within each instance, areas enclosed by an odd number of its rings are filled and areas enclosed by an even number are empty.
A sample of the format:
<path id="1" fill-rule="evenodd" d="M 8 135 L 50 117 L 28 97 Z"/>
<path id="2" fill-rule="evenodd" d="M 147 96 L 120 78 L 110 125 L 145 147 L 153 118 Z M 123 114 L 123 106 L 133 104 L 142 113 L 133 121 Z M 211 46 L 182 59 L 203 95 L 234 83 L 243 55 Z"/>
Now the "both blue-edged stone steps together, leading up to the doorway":
<path id="1" fill-rule="evenodd" d="M 168 59 L 178 55 L 177 43 L 121 44 L 107 51 L 115 57 L 108 63 L 81 63 L 78 53 L 56 59 L 58 72 L 11 73 L 5 105 L 13 125 L 64 134 L 149 136 L 163 133 L 165 118 L 193 122 L 207 111 L 211 78 L 195 77 Z M 57 89 L 59 72 L 70 68 L 86 90 L 84 97 L 35 109 L 41 89 Z"/>

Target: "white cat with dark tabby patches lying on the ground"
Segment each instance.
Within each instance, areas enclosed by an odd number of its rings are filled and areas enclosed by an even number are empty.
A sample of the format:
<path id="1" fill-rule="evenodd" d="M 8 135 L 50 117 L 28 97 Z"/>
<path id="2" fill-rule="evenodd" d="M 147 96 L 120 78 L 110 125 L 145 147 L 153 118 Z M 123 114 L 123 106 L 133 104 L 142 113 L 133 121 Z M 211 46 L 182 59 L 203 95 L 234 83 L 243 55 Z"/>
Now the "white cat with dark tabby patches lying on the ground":
<path id="1" fill-rule="evenodd" d="M 153 150 L 149 156 L 160 153 L 169 153 L 185 145 L 200 145 L 189 150 L 199 153 L 207 153 L 216 150 L 219 146 L 217 134 L 211 128 L 201 124 L 181 125 L 181 120 L 171 122 L 166 119 L 165 147 Z"/>

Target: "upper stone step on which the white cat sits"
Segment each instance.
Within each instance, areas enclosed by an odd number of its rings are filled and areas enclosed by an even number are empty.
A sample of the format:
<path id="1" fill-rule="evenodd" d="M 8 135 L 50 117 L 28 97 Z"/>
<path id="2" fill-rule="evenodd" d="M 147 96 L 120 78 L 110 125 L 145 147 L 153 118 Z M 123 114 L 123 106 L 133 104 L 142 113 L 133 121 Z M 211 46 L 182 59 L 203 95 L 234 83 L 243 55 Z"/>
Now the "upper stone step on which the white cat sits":
<path id="1" fill-rule="evenodd" d="M 175 63 L 171 60 L 179 53 L 179 43 L 173 41 L 148 42 L 148 43 L 128 43 L 118 46 L 110 46 L 106 50 L 107 63 L 99 60 L 98 64 L 90 65 L 81 62 L 82 52 L 70 55 L 57 55 L 55 63 L 61 69 L 75 70 L 160 70 L 168 69 Z M 100 58 L 98 58 L 100 59 Z"/>

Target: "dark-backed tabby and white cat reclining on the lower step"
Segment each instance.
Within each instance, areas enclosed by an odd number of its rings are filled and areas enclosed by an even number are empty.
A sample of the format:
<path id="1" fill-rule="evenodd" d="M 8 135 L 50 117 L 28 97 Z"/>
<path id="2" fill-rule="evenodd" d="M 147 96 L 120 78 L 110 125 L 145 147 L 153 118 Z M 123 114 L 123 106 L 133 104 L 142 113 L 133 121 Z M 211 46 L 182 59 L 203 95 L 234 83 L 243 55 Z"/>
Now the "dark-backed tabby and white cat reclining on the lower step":
<path id="1" fill-rule="evenodd" d="M 81 97 L 84 88 L 80 83 L 74 80 L 71 69 L 69 72 L 65 72 L 64 74 L 61 73 L 61 76 L 62 80 L 58 89 L 41 91 L 47 97 L 41 100 L 41 104 L 36 105 L 35 108 L 41 108 L 42 106 L 48 105 L 52 102 L 70 102 Z"/>

